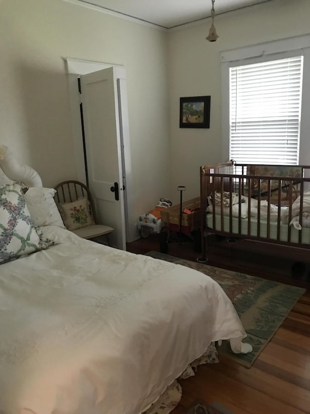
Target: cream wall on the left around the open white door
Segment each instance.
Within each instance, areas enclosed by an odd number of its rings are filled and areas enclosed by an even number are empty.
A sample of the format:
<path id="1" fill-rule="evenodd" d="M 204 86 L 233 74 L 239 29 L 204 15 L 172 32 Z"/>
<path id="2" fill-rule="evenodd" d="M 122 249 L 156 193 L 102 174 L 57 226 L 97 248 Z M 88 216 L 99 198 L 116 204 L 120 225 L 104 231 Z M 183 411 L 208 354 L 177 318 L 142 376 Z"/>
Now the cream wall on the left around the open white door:
<path id="1" fill-rule="evenodd" d="M 167 33 L 62 0 L 0 1 L 0 142 L 45 186 L 75 179 L 63 58 L 124 65 L 138 216 L 170 197 Z"/>

